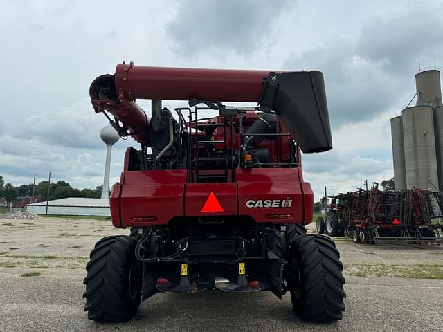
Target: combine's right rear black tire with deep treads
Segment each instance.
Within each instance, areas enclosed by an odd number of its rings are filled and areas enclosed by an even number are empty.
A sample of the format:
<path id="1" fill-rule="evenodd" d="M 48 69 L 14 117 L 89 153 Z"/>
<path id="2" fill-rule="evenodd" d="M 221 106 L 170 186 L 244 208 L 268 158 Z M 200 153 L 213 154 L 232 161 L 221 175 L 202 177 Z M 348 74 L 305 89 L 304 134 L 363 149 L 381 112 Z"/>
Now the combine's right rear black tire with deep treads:
<path id="1" fill-rule="evenodd" d="M 336 322 L 345 311 L 343 264 L 334 241 L 322 235 L 302 235 L 289 252 L 286 275 L 293 311 L 305 322 Z"/>

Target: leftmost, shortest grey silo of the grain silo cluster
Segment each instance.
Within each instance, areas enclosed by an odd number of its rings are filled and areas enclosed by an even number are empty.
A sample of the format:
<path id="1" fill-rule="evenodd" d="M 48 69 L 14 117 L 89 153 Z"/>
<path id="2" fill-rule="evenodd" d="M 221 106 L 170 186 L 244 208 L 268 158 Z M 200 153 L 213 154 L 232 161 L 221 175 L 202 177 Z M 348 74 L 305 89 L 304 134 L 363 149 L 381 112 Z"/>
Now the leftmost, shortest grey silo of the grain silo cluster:
<path id="1" fill-rule="evenodd" d="M 403 119 L 401 116 L 390 119 L 390 130 L 392 132 L 395 189 L 404 190 L 406 189 L 406 165 L 404 162 Z"/>

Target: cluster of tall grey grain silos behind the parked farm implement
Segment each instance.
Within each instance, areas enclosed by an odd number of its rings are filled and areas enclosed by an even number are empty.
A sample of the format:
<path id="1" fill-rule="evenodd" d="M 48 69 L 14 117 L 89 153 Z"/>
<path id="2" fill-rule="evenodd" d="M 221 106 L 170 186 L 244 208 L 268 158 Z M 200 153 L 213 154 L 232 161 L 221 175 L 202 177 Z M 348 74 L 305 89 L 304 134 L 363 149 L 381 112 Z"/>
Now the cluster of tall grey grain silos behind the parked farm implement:
<path id="1" fill-rule="evenodd" d="M 420 71 L 415 75 L 415 84 L 416 105 L 391 119 L 395 189 L 443 189 L 440 71 Z"/>

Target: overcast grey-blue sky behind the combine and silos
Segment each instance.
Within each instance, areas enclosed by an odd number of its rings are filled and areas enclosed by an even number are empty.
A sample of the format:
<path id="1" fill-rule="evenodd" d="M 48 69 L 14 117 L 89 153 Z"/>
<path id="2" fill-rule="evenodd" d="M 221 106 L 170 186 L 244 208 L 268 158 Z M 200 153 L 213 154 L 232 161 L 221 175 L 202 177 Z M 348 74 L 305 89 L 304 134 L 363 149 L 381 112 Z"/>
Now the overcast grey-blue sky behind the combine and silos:
<path id="1" fill-rule="evenodd" d="M 323 71 L 334 149 L 304 156 L 305 180 L 316 199 L 325 185 L 353 190 L 392 177 L 390 117 L 415 94 L 418 61 L 443 66 L 442 1 L 0 0 L 0 13 L 0 175 L 14 185 L 50 171 L 102 183 L 107 120 L 89 84 L 132 60 Z M 129 141 L 114 148 L 112 182 Z"/>

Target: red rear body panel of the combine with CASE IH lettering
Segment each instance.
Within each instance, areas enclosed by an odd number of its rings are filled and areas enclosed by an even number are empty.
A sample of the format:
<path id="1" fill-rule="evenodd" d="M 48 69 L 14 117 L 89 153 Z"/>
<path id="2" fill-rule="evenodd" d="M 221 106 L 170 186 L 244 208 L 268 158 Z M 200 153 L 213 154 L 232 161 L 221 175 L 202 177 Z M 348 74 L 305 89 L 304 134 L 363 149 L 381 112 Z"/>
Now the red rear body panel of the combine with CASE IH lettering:
<path id="1" fill-rule="evenodd" d="M 242 215 L 258 223 L 310 223 L 314 195 L 309 183 L 300 183 L 298 173 L 298 168 L 236 169 L 235 183 L 186 183 L 185 169 L 126 171 L 122 185 L 111 193 L 112 221 L 125 228 L 165 225 L 183 216 Z M 201 212 L 211 192 L 223 211 Z M 269 217 L 280 214 L 291 216 Z"/>

